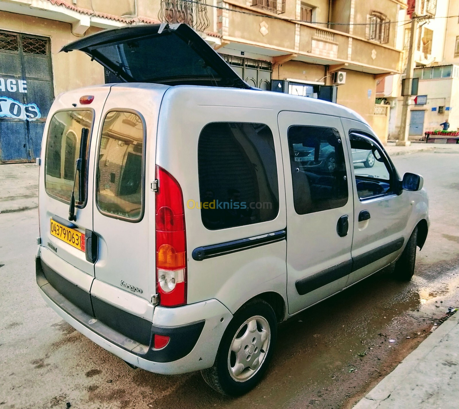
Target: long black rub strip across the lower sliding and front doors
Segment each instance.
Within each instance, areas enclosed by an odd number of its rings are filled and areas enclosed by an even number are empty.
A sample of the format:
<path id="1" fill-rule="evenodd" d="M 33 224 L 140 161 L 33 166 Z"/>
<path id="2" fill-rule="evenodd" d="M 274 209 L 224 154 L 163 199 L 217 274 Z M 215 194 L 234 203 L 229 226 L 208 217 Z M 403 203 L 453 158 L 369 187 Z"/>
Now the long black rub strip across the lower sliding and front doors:
<path id="1" fill-rule="evenodd" d="M 295 282 L 299 295 L 308 294 L 308 292 L 317 290 L 322 286 L 326 286 L 335 280 L 339 280 L 354 271 L 371 264 L 380 258 L 386 257 L 389 254 L 400 250 L 403 247 L 405 239 L 400 237 L 397 240 L 386 243 L 380 247 L 376 247 L 369 252 L 361 254 L 360 256 L 353 257 L 343 263 L 328 269 L 319 271 L 313 275 L 302 278 Z"/>

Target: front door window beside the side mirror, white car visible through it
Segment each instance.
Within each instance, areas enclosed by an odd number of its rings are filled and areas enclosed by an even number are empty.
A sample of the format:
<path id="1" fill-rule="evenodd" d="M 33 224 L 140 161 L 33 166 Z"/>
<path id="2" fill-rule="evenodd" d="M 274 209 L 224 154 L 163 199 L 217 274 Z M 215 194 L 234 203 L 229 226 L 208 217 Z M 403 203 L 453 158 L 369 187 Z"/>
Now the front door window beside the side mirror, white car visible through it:
<path id="1" fill-rule="evenodd" d="M 382 149 L 368 136 L 351 133 L 349 138 L 358 197 L 389 193 L 392 169 Z"/>

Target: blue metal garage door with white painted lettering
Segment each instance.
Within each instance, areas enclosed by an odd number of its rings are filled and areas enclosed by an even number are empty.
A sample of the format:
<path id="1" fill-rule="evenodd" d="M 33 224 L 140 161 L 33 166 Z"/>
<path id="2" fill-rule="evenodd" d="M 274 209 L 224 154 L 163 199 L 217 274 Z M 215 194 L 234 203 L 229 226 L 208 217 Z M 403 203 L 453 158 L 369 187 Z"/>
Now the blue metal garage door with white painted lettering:
<path id="1" fill-rule="evenodd" d="M 53 99 L 49 39 L 0 31 L 0 163 L 39 156 Z"/>

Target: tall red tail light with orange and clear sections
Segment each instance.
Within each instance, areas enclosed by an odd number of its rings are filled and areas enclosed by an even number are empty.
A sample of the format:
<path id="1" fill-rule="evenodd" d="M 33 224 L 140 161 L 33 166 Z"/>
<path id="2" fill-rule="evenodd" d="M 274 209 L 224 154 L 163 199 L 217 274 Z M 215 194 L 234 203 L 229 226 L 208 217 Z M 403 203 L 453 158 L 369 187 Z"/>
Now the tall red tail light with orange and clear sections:
<path id="1" fill-rule="evenodd" d="M 175 178 L 156 167 L 156 287 L 159 304 L 186 304 L 186 238 L 183 194 Z"/>

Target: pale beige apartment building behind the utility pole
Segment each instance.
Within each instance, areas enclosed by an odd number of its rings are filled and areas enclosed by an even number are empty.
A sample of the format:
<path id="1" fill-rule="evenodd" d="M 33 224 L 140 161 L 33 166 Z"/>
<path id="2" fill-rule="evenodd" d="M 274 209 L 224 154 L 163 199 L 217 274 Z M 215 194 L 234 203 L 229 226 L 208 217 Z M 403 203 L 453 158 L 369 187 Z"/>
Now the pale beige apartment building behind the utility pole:
<path id="1" fill-rule="evenodd" d="M 420 140 L 425 132 L 442 129 L 448 121 L 450 130 L 459 129 L 459 0 L 409 0 L 417 13 L 425 16 L 418 23 L 414 44 L 414 78 L 417 96 L 409 100 L 409 139 Z M 396 46 L 404 50 L 405 71 L 411 22 L 408 10 L 400 12 L 401 25 Z M 408 21 L 408 23 L 407 23 Z M 403 25 L 403 26 L 402 26 Z M 405 73 L 377 81 L 378 101 L 389 104 L 389 139 L 397 140 L 400 130 Z"/>

